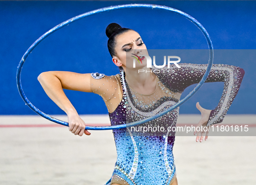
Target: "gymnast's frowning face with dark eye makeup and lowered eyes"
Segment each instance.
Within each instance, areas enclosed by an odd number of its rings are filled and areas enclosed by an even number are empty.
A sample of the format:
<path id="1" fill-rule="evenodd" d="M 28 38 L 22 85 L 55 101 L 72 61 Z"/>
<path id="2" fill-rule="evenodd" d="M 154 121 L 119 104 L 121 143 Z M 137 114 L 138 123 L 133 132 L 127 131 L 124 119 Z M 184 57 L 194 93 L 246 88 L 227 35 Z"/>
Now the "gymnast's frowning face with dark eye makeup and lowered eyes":
<path id="1" fill-rule="evenodd" d="M 146 45 L 143 43 L 142 38 L 137 32 L 129 30 L 121 35 L 118 35 L 116 38 L 116 43 L 117 45 L 115 49 L 117 56 L 113 56 L 112 58 L 114 64 L 116 64 L 118 67 L 122 66 L 125 72 L 126 68 L 137 70 L 138 68 L 146 66 L 146 58 L 140 57 L 142 63 L 139 63 L 136 60 L 136 68 L 133 68 L 133 59 L 136 57 L 134 54 L 148 55 Z"/>

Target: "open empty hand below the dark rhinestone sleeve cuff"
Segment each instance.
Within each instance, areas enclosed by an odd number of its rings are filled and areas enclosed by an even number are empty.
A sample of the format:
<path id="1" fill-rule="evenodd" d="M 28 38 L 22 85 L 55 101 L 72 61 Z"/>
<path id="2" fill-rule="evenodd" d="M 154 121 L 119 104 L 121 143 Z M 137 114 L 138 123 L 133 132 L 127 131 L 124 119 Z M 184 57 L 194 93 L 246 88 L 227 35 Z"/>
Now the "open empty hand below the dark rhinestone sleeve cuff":
<path id="1" fill-rule="evenodd" d="M 200 138 L 200 142 L 202 142 L 203 138 L 204 140 L 207 140 L 208 138 L 208 134 L 209 134 L 209 127 L 207 127 L 207 131 L 205 132 L 204 130 L 206 130 L 204 127 L 207 125 L 211 110 L 202 108 L 201 105 L 199 105 L 199 102 L 197 102 L 196 107 L 198 108 L 198 110 L 201 112 L 201 120 L 198 122 L 197 127 L 200 127 L 200 131 L 194 131 L 194 135 L 197 133 L 197 137 L 196 137 L 196 142 L 198 142 L 199 137 Z M 202 128 L 201 128 L 202 126 Z M 199 130 L 199 129 L 198 129 Z M 204 137 L 205 134 L 205 137 Z"/>

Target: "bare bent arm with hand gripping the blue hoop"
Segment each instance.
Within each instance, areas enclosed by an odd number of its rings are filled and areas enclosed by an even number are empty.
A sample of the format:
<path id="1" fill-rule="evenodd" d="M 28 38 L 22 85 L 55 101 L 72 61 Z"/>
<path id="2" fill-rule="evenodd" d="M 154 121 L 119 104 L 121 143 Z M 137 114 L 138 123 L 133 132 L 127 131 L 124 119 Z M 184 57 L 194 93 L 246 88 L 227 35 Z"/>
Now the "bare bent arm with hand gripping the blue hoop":
<path id="1" fill-rule="evenodd" d="M 71 104 L 63 89 L 92 92 L 91 73 L 74 73 L 69 71 L 47 71 L 38 76 L 38 80 L 46 94 L 68 115 L 69 131 L 75 135 L 82 136 L 83 133 L 90 135 L 85 129 L 84 121 L 79 117 L 75 107 Z M 106 83 L 106 86 L 108 84 Z M 102 88 L 102 90 L 104 90 Z M 99 90 L 100 92 L 100 90 Z M 109 96 L 109 92 L 104 92 L 104 97 Z"/>

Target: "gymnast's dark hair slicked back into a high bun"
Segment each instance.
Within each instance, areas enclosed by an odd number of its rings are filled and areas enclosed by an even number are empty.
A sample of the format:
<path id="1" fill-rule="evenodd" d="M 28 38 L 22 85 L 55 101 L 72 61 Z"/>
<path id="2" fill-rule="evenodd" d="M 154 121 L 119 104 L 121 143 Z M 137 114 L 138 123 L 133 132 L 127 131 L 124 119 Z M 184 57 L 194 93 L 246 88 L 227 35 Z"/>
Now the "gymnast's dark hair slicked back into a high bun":
<path id="1" fill-rule="evenodd" d="M 129 30 L 133 30 L 133 29 L 129 29 L 129 28 L 122 28 L 119 24 L 117 23 L 110 23 L 107 28 L 106 28 L 106 35 L 109 38 L 107 41 L 107 48 L 108 51 L 111 55 L 111 57 L 113 58 L 113 56 L 117 56 L 117 52 L 116 52 L 116 37 L 118 35 L 121 35 L 124 32 L 127 32 Z M 119 67 L 120 70 L 123 70 L 123 67 Z"/>

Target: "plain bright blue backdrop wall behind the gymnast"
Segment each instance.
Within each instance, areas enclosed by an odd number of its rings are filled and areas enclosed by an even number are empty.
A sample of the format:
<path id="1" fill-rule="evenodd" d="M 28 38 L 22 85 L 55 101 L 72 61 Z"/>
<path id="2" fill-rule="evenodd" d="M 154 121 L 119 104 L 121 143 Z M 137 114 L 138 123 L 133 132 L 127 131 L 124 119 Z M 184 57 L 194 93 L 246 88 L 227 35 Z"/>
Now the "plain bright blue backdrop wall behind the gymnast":
<path id="1" fill-rule="evenodd" d="M 229 64 L 245 70 L 240 90 L 227 114 L 256 114 L 256 1 L 0 1 L 0 114 L 36 114 L 19 96 L 16 70 L 23 54 L 37 38 L 79 14 L 129 3 L 158 4 L 181 10 L 204 26 L 214 49 L 237 49 L 237 52 L 230 51 L 228 57 L 218 55 L 217 50 L 214 55 L 214 64 Z M 107 50 L 105 29 L 111 22 L 139 32 L 148 49 L 208 48 L 204 35 L 193 23 L 169 11 L 129 8 L 89 16 L 53 33 L 29 55 L 22 70 L 22 84 L 33 105 L 46 114 L 65 114 L 38 82 L 37 77 L 43 71 L 119 73 Z M 207 61 L 198 63 L 207 64 Z M 223 85 L 205 83 L 181 105 L 180 113 L 199 114 L 196 102 L 214 109 Z M 193 88 L 187 88 L 182 97 Z M 100 96 L 64 91 L 79 114 L 107 114 Z"/>

